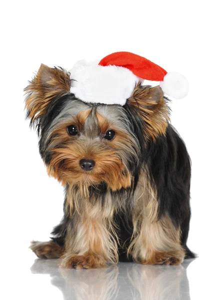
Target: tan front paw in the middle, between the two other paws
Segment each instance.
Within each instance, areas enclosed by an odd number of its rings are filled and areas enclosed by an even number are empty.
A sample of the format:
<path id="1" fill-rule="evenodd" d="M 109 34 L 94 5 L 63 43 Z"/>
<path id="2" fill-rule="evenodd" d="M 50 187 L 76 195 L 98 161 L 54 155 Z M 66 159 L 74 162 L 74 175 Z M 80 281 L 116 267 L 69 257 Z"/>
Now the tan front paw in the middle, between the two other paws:
<path id="1" fill-rule="evenodd" d="M 65 255 L 62 257 L 60 267 L 75 268 L 75 269 L 88 269 L 88 268 L 101 268 L 105 267 L 105 261 L 96 255 Z"/>

